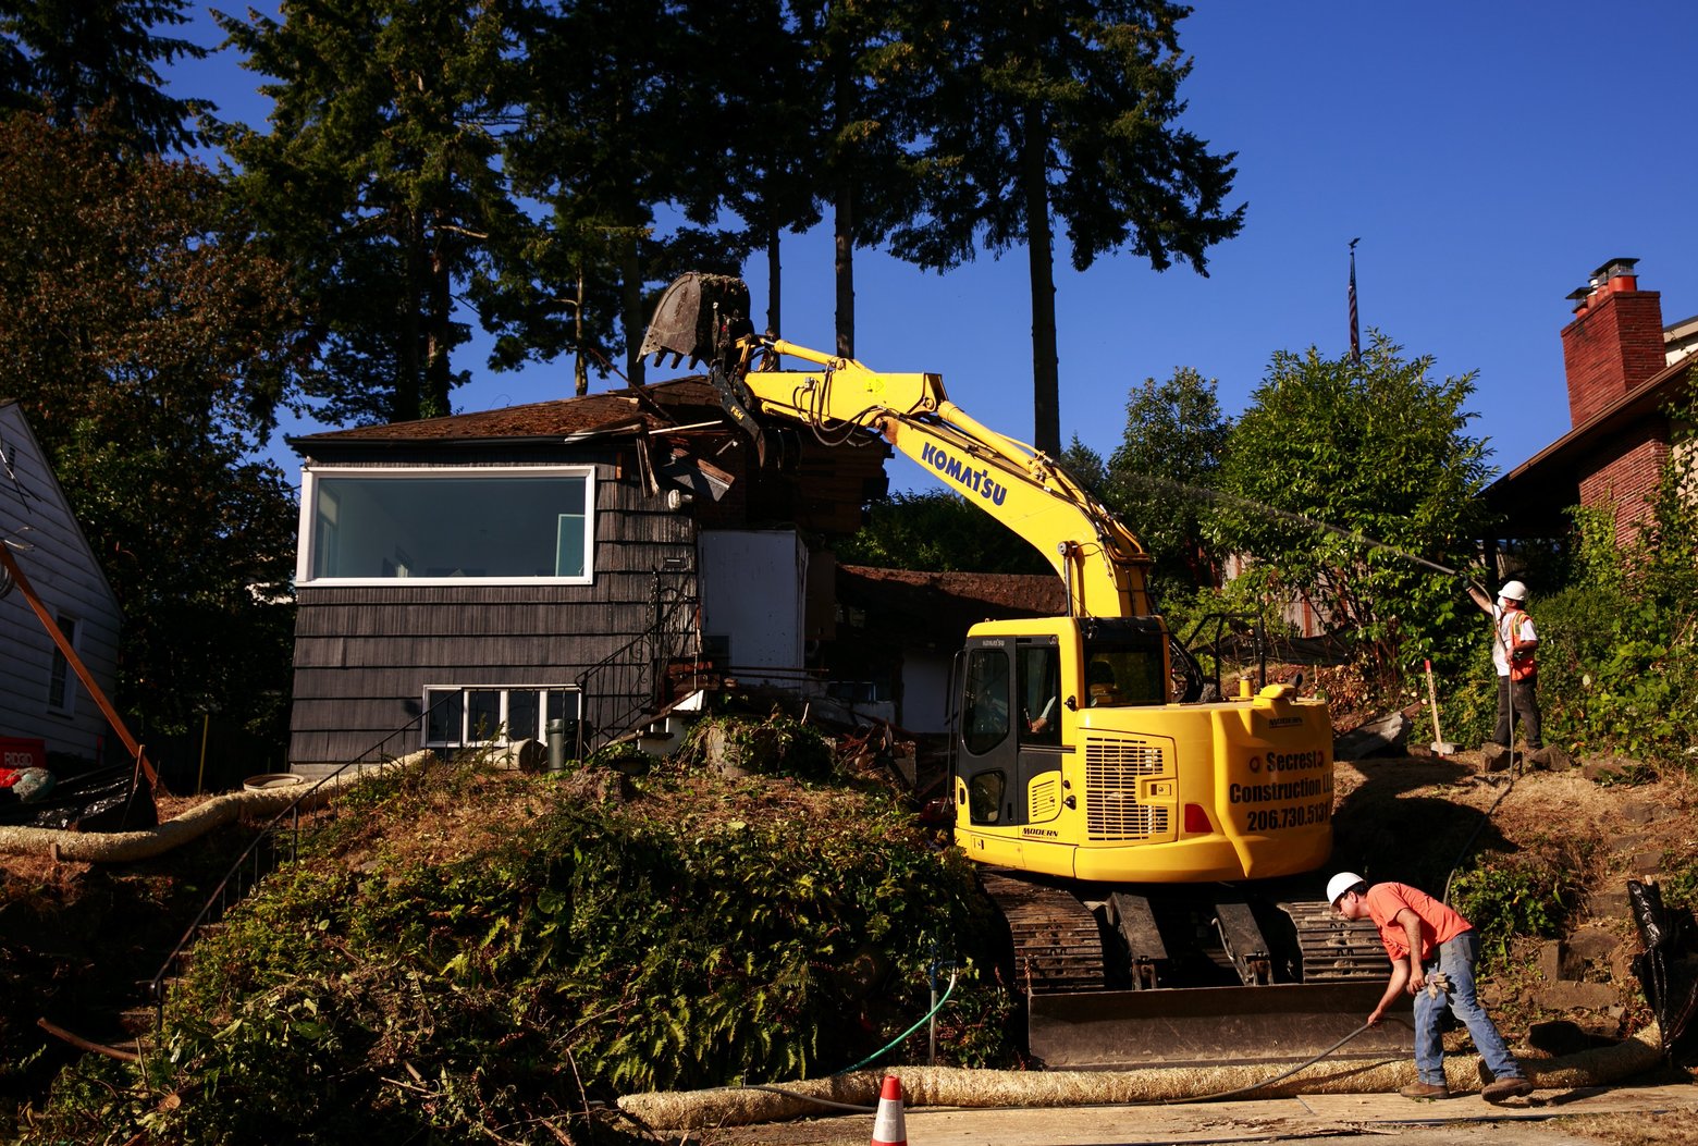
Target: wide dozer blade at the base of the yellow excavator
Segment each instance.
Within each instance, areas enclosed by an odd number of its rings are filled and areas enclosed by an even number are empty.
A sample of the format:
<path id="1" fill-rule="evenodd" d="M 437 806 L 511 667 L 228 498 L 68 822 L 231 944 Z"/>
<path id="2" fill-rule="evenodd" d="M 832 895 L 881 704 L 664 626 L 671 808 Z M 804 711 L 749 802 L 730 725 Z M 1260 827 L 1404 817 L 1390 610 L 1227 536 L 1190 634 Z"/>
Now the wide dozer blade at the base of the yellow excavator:
<path id="1" fill-rule="evenodd" d="M 1075 992 L 1027 998 L 1027 1039 L 1049 1070 L 1143 1066 L 1296 1066 L 1362 1025 L 1382 983 L 1275 983 L 1146 992 Z M 1408 1010 L 1394 1010 L 1328 1061 L 1408 1058 Z"/>

